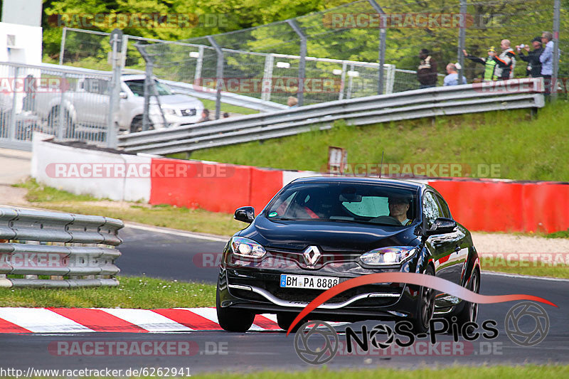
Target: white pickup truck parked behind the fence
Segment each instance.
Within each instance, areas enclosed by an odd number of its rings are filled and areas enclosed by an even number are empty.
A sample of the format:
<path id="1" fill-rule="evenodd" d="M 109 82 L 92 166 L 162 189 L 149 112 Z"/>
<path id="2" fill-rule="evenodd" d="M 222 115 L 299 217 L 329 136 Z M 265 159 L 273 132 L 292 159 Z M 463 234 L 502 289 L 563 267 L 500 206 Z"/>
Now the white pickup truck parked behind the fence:
<path id="1" fill-rule="evenodd" d="M 150 98 L 149 122 L 151 129 L 193 124 L 201 119 L 203 104 L 189 95 L 174 93 L 170 87 L 154 81 L 164 118 L 156 97 Z M 61 93 L 36 93 L 35 111 L 47 122 L 54 133 L 63 104 L 65 137 L 73 138 L 80 132 L 102 131 L 107 126 L 110 81 L 101 78 L 82 78 L 69 81 L 70 90 Z M 142 130 L 144 113 L 144 75 L 121 75 L 119 110 L 115 125 L 119 132 Z M 166 119 L 166 124 L 164 124 Z"/>

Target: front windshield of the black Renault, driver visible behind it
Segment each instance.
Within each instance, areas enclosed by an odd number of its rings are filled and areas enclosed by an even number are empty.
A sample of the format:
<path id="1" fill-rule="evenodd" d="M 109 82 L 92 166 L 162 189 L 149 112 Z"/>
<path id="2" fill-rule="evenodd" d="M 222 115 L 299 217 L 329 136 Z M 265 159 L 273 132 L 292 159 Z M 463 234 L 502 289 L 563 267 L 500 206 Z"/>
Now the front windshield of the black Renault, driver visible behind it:
<path id="1" fill-rule="evenodd" d="M 416 198 L 416 191 L 371 183 L 299 183 L 282 191 L 265 216 L 403 226 L 415 218 Z"/>

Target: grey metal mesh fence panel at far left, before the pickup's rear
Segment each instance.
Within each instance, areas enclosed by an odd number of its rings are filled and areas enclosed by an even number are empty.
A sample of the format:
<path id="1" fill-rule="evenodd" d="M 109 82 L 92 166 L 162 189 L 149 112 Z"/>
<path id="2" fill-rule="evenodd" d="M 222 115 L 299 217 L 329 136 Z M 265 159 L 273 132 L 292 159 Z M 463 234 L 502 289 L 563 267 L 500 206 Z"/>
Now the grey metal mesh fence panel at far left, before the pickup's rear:
<path id="1" fill-rule="evenodd" d="M 29 146 L 33 132 L 105 144 L 111 76 L 0 64 L 0 142 Z"/>

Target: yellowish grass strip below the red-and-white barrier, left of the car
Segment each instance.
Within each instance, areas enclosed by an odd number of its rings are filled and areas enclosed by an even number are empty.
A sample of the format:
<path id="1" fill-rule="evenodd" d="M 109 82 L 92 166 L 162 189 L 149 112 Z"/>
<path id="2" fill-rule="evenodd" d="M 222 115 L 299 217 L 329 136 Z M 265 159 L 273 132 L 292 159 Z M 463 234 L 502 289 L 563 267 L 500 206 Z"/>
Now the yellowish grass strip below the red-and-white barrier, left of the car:
<path id="1" fill-rule="evenodd" d="M 104 215 L 147 225 L 161 226 L 198 233 L 233 235 L 245 227 L 228 213 L 203 209 L 178 208 L 173 205 L 148 205 L 104 201 L 91 196 L 75 195 L 57 188 L 43 186 L 33 179 L 16 186 L 26 188 L 26 200 L 38 208 L 68 213 Z"/>

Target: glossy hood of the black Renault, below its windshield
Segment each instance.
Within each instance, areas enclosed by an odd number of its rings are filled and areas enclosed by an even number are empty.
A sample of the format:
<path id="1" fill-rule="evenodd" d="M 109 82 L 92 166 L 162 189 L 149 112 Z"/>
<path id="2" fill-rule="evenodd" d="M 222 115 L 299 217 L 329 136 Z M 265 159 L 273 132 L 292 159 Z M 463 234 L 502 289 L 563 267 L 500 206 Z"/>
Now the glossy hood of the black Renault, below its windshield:
<path id="1" fill-rule="evenodd" d="M 366 252 L 378 247 L 418 245 L 413 229 L 336 221 L 273 221 L 257 216 L 239 235 L 269 250 L 304 250 L 316 245 L 329 252 Z"/>

